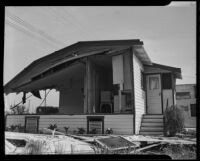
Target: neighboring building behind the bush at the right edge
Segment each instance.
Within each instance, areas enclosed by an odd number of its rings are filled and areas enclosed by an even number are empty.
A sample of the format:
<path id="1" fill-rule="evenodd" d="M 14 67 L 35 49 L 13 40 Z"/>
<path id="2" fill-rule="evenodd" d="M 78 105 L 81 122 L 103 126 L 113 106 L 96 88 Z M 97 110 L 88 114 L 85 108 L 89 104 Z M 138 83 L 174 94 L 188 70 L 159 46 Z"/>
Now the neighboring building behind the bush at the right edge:
<path id="1" fill-rule="evenodd" d="M 196 84 L 176 85 L 176 104 L 183 109 L 186 128 L 196 128 Z"/>

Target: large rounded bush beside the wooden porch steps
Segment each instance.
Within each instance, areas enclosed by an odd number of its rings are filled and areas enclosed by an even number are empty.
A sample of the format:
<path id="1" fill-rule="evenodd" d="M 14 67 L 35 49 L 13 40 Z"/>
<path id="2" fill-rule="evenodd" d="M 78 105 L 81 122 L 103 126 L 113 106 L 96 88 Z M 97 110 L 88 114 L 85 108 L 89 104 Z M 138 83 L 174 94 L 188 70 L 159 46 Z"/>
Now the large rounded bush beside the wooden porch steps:
<path id="1" fill-rule="evenodd" d="M 177 106 L 167 107 L 164 113 L 165 136 L 175 136 L 184 128 L 183 111 Z"/>

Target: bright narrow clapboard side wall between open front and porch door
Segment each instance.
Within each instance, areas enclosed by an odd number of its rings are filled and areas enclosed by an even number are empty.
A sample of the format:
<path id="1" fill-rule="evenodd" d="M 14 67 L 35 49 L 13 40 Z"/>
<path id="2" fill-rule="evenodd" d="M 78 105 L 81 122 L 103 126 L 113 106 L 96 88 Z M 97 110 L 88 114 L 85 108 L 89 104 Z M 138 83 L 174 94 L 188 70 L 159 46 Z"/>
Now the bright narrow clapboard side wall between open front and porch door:
<path id="1" fill-rule="evenodd" d="M 144 71 L 142 63 L 133 54 L 133 75 L 135 90 L 135 133 L 139 134 L 142 115 L 145 113 L 145 92 L 141 88 L 141 71 Z"/>

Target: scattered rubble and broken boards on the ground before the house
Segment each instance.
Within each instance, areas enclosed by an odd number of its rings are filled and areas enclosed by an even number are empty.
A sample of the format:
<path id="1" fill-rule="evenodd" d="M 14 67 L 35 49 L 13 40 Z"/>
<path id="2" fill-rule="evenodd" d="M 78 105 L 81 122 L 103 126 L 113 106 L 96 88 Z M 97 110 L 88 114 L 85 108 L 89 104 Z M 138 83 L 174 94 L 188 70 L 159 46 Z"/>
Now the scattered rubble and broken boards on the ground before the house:
<path id="1" fill-rule="evenodd" d="M 37 150 L 39 152 L 37 153 L 40 154 L 97 154 L 99 148 L 100 150 L 106 149 L 108 151 L 129 149 L 129 154 L 135 154 L 151 150 L 163 144 L 196 145 L 195 138 L 185 139 L 180 137 L 142 135 L 70 135 L 58 132 L 55 129 L 43 129 L 43 132 L 45 134 L 6 131 L 6 154 L 33 154 L 33 152 L 30 152 L 30 149 L 33 149 L 34 146 L 38 147 Z M 26 142 L 24 146 L 22 140 Z M 17 145 L 17 141 L 21 142 L 21 145 Z"/>

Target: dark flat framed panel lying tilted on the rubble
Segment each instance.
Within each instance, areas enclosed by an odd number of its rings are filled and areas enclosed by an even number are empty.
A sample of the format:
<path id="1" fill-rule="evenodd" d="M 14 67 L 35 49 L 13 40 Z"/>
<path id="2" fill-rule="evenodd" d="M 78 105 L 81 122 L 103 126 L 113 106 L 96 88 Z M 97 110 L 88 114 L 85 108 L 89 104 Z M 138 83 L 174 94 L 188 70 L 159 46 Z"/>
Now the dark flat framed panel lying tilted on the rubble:
<path id="1" fill-rule="evenodd" d="M 133 142 L 130 142 L 120 136 L 116 137 L 109 136 L 107 138 L 95 139 L 95 141 L 99 143 L 101 146 L 106 147 L 108 150 L 120 150 L 129 147 L 137 147 L 137 145 L 134 144 Z"/>

